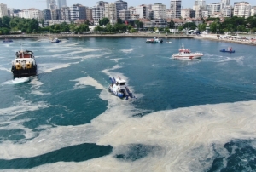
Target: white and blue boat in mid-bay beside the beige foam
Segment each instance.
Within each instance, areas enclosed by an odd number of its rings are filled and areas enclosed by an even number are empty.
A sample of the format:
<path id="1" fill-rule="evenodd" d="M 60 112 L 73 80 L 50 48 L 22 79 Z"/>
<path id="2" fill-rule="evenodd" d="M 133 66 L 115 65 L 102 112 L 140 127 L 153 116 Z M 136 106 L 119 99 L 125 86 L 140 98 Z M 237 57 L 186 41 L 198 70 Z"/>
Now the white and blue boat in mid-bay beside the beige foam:
<path id="1" fill-rule="evenodd" d="M 126 97 L 126 100 L 128 100 L 129 97 L 135 98 L 135 96 L 132 95 L 131 90 L 126 86 L 126 81 L 124 79 L 121 79 L 121 77 L 110 77 L 109 79 L 111 80 L 111 85 L 109 85 L 108 90 L 112 92 L 113 95 L 116 95 L 120 98 Z"/>

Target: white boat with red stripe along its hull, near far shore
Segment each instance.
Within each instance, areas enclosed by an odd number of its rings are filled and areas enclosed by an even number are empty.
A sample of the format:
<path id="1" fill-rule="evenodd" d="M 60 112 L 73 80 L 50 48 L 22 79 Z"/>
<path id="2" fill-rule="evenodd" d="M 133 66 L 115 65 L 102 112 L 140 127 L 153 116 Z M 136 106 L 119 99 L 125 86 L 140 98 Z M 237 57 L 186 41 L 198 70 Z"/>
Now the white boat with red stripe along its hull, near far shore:
<path id="1" fill-rule="evenodd" d="M 177 54 L 172 54 L 172 58 L 174 59 L 200 59 L 201 56 L 204 54 L 202 53 L 191 53 L 190 49 L 185 49 L 184 45 L 182 44 L 182 48 L 178 50 L 179 53 Z"/>

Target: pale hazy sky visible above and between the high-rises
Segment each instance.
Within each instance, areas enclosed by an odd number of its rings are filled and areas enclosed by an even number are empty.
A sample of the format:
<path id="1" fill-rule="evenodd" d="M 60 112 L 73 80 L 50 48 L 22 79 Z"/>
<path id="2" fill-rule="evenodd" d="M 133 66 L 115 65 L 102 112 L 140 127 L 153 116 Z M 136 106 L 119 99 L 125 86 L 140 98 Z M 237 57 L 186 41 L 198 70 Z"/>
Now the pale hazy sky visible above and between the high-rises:
<path id="1" fill-rule="evenodd" d="M 92 7 L 98 2 L 99 0 L 67 0 L 67 6 L 72 6 L 75 3 L 80 3 L 84 6 Z M 113 3 L 116 0 L 104 0 L 109 3 Z M 141 4 L 154 4 L 154 3 L 163 3 L 166 5 L 166 8 L 170 8 L 170 0 L 124 0 L 128 3 L 128 6 L 137 6 Z M 234 2 L 241 2 L 244 0 L 231 0 L 231 4 Z M 256 6 L 255 0 L 245 0 L 246 2 L 250 3 L 253 6 Z M 182 0 L 183 8 L 192 8 L 194 4 L 194 0 Z M 220 0 L 206 0 L 207 3 L 218 3 Z M 15 8 L 15 9 L 46 9 L 46 0 L 0 0 L 0 3 L 7 4 L 8 8 Z"/>

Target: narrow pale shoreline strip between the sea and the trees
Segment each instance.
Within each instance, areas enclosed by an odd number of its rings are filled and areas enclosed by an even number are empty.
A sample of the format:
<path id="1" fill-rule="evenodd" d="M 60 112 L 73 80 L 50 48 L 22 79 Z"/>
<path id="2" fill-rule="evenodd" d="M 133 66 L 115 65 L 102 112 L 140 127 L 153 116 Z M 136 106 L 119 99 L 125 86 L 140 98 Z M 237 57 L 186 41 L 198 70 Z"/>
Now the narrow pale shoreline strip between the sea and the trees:
<path id="1" fill-rule="evenodd" d="M 217 35 L 184 35 L 184 34 L 151 34 L 151 33 L 119 33 L 119 34 L 32 34 L 32 35 L 1 35 L 0 40 L 8 39 L 22 39 L 22 38 L 49 38 L 49 37 L 58 37 L 58 38 L 69 38 L 69 37 L 106 37 L 106 38 L 125 38 L 125 37 L 144 37 L 144 38 L 152 38 L 152 37 L 160 37 L 160 38 L 195 38 L 201 40 L 210 40 L 210 41 L 218 41 L 225 43 L 238 43 L 238 44 L 246 44 L 256 46 L 256 42 L 252 42 L 244 39 L 228 39 L 228 38 L 218 38 Z"/>

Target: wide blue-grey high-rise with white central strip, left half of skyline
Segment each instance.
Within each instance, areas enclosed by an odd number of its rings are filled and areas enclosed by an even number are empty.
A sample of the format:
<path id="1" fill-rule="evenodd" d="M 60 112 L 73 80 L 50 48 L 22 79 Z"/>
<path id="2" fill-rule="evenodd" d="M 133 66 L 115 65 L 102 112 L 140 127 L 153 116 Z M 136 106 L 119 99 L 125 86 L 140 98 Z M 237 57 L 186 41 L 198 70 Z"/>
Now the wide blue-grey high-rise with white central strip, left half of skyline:
<path id="1" fill-rule="evenodd" d="M 70 20 L 86 20 L 85 6 L 81 4 L 73 4 L 70 7 Z"/>

